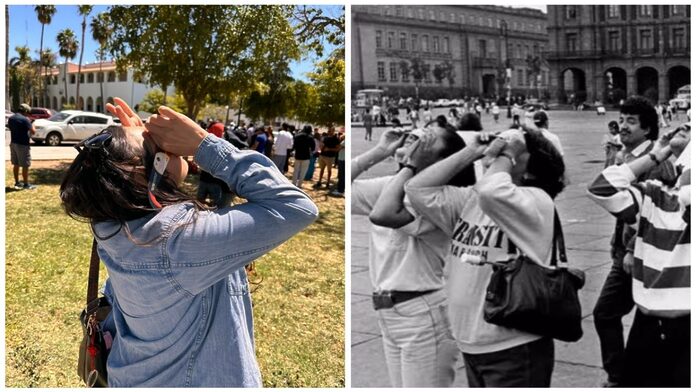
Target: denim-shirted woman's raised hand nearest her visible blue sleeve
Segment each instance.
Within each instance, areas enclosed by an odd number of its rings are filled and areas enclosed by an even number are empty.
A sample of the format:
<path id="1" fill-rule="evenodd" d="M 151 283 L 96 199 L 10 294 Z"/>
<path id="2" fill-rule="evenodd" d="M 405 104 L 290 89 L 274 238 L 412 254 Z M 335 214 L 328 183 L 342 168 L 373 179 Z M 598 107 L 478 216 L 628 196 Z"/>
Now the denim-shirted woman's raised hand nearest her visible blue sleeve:
<path id="1" fill-rule="evenodd" d="M 145 124 L 150 136 L 164 151 L 179 155 L 195 155 L 198 145 L 208 134 L 195 121 L 171 108 L 160 106 Z"/>

